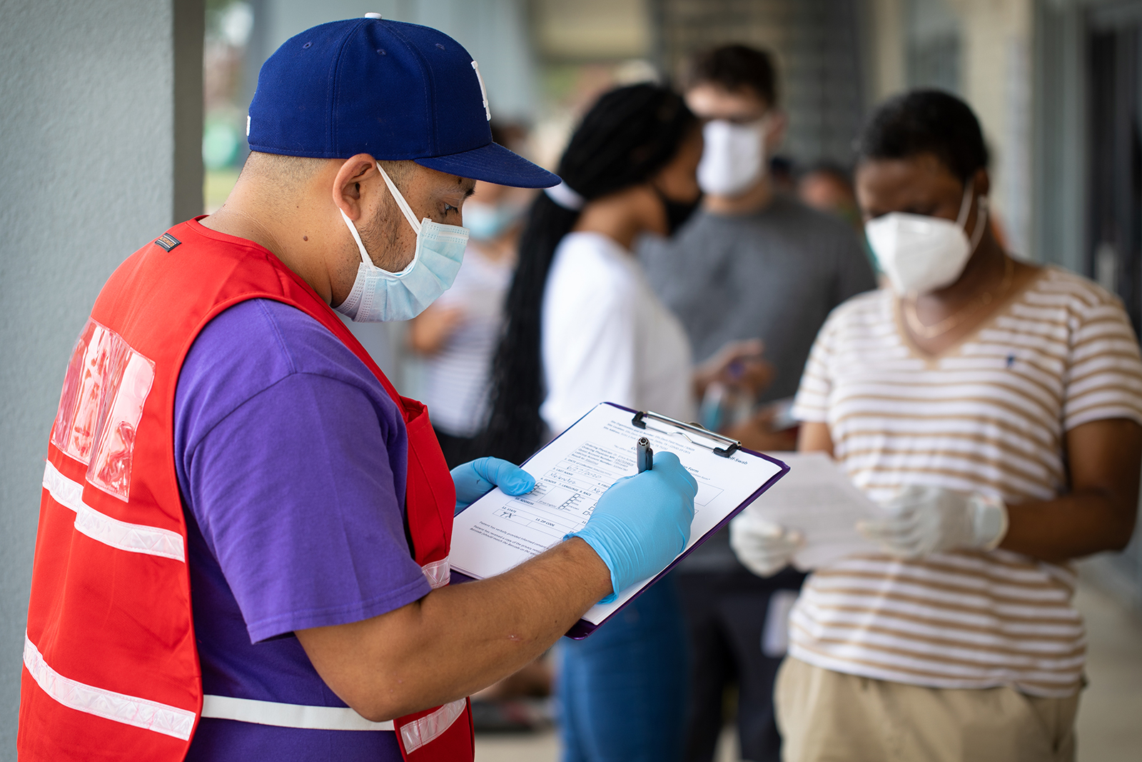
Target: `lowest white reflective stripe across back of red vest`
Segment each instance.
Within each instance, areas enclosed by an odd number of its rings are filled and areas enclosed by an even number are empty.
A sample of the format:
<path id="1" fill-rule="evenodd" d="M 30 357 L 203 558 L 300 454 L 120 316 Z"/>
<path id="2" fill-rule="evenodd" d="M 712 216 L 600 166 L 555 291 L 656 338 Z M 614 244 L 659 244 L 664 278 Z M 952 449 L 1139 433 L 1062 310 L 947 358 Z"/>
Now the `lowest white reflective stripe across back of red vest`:
<path id="1" fill-rule="evenodd" d="M 69 708 L 180 740 L 191 738 L 193 712 L 64 677 L 43 660 L 40 649 L 35 648 L 27 633 L 24 633 L 24 666 L 45 693 Z"/>

